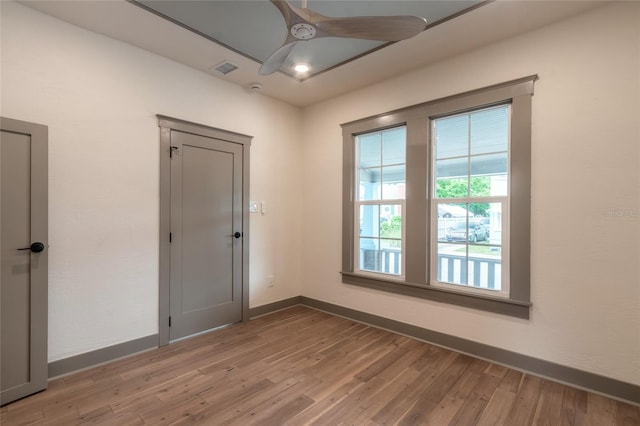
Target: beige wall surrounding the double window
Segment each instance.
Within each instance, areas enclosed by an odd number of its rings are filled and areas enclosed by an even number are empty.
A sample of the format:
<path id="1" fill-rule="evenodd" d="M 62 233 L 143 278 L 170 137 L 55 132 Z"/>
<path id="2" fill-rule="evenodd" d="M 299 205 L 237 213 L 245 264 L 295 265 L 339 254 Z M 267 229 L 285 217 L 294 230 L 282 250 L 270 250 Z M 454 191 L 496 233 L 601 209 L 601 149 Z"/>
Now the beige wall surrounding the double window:
<path id="1" fill-rule="evenodd" d="M 342 284 L 339 125 L 531 74 L 531 319 Z M 306 108 L 303 294 L 640 384 L 639 118 L 631 2 Z"/>

